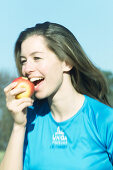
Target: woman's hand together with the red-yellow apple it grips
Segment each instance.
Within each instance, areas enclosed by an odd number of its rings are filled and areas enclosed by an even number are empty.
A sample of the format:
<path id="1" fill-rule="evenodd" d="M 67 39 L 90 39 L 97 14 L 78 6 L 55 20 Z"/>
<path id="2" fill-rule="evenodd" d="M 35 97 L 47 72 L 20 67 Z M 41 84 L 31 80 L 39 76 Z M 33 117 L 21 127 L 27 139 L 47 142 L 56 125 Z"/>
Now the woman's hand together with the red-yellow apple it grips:
<path id="1" fill-rule="evenodd" d="M 34 84 L 23 77 L 15 79 L 13 83 L 4 88 L 6 107 L 11 112 L 14 124 L 19 127 L 25 127 L 27 123 L 26 108 L 33 105 L 34 101 L 30 98 L 33 92 Z"/>

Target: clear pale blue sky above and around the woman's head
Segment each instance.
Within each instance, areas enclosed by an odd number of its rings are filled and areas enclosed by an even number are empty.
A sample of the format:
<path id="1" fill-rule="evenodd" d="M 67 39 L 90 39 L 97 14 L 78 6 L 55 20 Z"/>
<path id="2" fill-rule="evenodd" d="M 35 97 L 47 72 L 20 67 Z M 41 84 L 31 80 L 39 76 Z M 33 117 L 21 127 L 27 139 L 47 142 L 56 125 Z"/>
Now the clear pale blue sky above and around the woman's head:
<path id="1" fill-rule="evenodd" d="M 0 70 L 15 74 L 19 33 L 51 21 L 72 31 L 100 69 L 113 72 L 113 0 L 4 0 L 0 4 Z"/>

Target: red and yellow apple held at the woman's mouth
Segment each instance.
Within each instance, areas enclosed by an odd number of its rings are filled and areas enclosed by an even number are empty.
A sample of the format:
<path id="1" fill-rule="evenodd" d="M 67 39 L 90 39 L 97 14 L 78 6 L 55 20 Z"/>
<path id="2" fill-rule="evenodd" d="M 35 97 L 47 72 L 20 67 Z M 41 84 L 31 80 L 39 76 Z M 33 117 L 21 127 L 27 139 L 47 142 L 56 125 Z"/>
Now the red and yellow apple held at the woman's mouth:
<path id="1" fill-rule="evenodd" d="M 25 88 L 26 91 L 16 95 L 16 99 L 23 97 L 31 97 L 34 93 L 34 84 L 28 80 L 26 77 L 18 77 L 13 82 L 17 82 L 17 87 Z"/>

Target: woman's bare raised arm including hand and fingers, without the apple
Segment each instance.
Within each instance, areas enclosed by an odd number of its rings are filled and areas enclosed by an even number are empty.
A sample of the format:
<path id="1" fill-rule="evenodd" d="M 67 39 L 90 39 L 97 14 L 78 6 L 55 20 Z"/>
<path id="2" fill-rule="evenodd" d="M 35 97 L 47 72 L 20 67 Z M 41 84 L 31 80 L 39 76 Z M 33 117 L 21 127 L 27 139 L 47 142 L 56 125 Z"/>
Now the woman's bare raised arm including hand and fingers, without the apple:
<path id="1" fill-rule="evenodd" d="M 33 101 L 31 98 L 15 99 L 15 95 L 25 91 L 22 88 L 14 88 L 15 86 L 15 83 L 11 83 L 4 89 L 7 108 L 14 119 L 14 126 L 0 170 L 23 169 L 23 143 L 27 122 L 25 108 L 31 106 Z"/>

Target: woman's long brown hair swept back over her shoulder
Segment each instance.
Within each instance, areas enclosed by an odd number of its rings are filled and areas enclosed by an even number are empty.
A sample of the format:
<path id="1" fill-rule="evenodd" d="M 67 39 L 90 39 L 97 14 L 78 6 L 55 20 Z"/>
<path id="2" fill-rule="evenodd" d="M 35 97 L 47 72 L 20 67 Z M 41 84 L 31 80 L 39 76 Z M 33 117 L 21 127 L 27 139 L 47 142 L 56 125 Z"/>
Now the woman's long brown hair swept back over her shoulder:
<path id="1" fill-rule="evenodd" d="M 101 71 L 89 60 L 75 36 L 64 26 L 45 22 L 21 32 L 15 44 L 15 59 L 21 73 L 20 53 L 22 42 L 32 35 L 43 36 L 47 47 L 60 60 L 72 64 L 72 84 L 77 92 L 93 97 L 107 105 L 107 83 Z"/>

